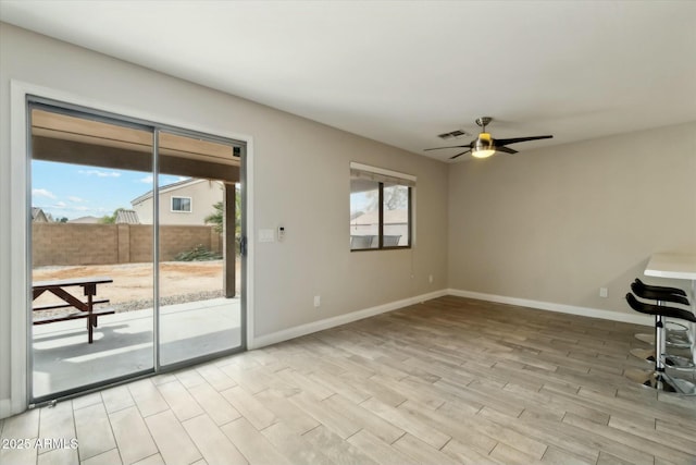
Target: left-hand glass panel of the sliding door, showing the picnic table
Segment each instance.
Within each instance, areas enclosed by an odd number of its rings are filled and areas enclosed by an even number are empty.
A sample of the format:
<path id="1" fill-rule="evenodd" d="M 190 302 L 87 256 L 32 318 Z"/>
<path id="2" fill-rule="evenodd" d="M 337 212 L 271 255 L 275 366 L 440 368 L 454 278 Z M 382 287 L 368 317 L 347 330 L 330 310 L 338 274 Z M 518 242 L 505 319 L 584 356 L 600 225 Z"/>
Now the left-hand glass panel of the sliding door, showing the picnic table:
<path id="1" fill-rule="evenodd" d="M 40 105 L 30 119 L 30 353 L 41 399 L 154 368 L 152 225 L 125 215 L 135 193 L 152 189 L 153 137 Z"/>

